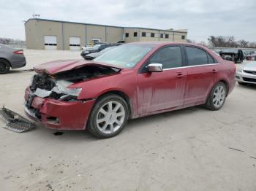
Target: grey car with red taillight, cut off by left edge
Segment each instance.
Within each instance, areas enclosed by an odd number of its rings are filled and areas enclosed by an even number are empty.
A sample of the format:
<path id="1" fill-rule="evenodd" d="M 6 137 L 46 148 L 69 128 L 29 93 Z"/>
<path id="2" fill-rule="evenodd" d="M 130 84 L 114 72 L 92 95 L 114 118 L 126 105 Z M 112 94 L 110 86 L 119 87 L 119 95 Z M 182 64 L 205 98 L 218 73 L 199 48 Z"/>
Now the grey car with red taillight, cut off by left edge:
<path id="1" fill-rule="evenodd" d="M 23 50 L 0 44 L 0 74 L 6 74 L 10 68 L 18 69 L 23 66 L 26 66 Z"/>

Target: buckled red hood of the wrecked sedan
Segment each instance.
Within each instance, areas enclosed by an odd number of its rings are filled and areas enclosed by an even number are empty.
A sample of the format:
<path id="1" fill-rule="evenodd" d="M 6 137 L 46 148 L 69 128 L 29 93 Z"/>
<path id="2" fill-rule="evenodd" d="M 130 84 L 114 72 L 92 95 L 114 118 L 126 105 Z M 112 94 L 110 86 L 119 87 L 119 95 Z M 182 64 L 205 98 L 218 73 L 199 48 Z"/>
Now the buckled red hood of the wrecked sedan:
<path id="1" fill-rule="evenodd" d="M 42 63 L 39 66 L 35 66 L 34 70 L 37 73 L 45 72 L 47 74 L 57 74 L 62 71 L 69 71 L 72 69 L 78 69 L 83 66 L 107 66 L 110 68 L 124 69 L 121 66 L 113 66 L 106 63 L 99 63 L 94 61 L 85 61 L 85 60 L 59 60 L 51 61 L 48 63 Z"/>

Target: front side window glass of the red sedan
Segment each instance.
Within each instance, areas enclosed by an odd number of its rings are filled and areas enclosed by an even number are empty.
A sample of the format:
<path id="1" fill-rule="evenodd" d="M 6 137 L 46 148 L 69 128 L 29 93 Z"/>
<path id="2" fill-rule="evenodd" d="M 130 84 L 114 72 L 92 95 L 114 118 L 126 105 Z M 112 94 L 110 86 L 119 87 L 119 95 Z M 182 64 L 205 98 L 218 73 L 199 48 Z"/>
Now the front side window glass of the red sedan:
<path id="1" fill-rule="evenodd" d="M 149 63 L 162 63 L 163 69 L 181 67 L 181 47 L 164 47 L 159 50 L 155 55 L 153 55 L 153 57 L 150 58 Z"/>

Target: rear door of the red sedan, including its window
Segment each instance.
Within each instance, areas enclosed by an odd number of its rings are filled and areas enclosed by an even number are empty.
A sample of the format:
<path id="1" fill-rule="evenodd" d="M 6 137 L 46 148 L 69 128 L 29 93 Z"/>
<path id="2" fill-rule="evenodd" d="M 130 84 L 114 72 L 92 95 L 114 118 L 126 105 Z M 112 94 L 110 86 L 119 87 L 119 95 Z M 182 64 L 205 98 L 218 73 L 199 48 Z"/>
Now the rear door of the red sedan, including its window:
<path id="1" fill-rule="evenodd" d="M 205 50 L 186 46 L 187 52 L 187 88 L 184 105 L 206 101 L 211 87 L 215 83 L 218 63 Z"/>

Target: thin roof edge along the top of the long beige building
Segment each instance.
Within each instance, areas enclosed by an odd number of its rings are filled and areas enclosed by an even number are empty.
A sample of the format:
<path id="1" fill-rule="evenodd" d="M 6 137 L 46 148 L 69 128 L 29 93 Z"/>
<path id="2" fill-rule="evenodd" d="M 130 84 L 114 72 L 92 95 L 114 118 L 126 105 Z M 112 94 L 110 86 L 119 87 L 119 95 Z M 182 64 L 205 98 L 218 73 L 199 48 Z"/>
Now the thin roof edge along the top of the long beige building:
<path id="1" fill-rule="evenodd" d="M 25 25 L 26 23 L 29 22 L 29 20 L 42 20 L 42 21 L 51 21 L 51 22 L 59 22 L 59 23 L 73 23 L 73 24 L 82 24 L 82 25 L 88 25 L 88 26 L 108 26 L 108 25 L 99 25 L 99 24 L 92 24 L 92 23 L 79 23 L 79 22 L 71 22 L 71 21 L 65 21 L 65 20 L 50 20 L 50 19 L 42 19 L 42 18 L 29 18 L 28 20 L 26 20 Z M 179 33 L 187 34 L 187 29 L 166 30 L 166 29 L 159 29 L 159 28 L 125 27 L 125 26 L 108 26 L 108 27 L 138 28 L 138 29 L 146 29 L 146 30 L 169 31 L 169 32 L 179 32 Z"/>

